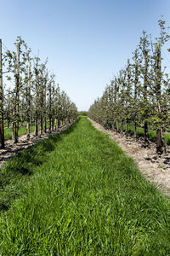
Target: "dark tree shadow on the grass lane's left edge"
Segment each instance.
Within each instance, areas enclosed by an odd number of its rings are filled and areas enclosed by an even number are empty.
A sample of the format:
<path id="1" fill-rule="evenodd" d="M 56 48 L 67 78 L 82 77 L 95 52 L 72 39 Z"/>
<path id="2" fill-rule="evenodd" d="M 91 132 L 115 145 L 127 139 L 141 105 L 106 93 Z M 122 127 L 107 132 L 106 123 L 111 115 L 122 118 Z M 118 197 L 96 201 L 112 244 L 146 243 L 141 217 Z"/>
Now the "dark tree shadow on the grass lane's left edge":
<path id="1" fill-rule="evenodd" d="M 66 131 L 51 135 L 10 157 L 11 159 L 8 160 L 8 163 L 3 166 L 0 172 L 0 190 L 2 192 L 0 211 L 7 211 L 12 201 L 20 197 L 18 184 L 22 181 L 24 183 L 29 181 L 37 166 L 41 166 L 48 160 L 48 153 L 54 151 L 57 143 L 77 128 L 78 122 L 79 120 Z"/>

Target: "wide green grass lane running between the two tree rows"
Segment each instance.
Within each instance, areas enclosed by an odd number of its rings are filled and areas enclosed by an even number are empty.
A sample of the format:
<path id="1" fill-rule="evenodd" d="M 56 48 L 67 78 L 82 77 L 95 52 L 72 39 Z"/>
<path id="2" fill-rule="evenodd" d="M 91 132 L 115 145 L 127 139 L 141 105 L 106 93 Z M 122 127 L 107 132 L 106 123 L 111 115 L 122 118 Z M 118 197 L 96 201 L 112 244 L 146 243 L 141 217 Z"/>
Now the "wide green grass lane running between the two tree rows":
<path id="1" fill-rule="evenodd" d="M 0 173 L 2 255 L 170 255 L 169 200 L 86 118 Z"/>

